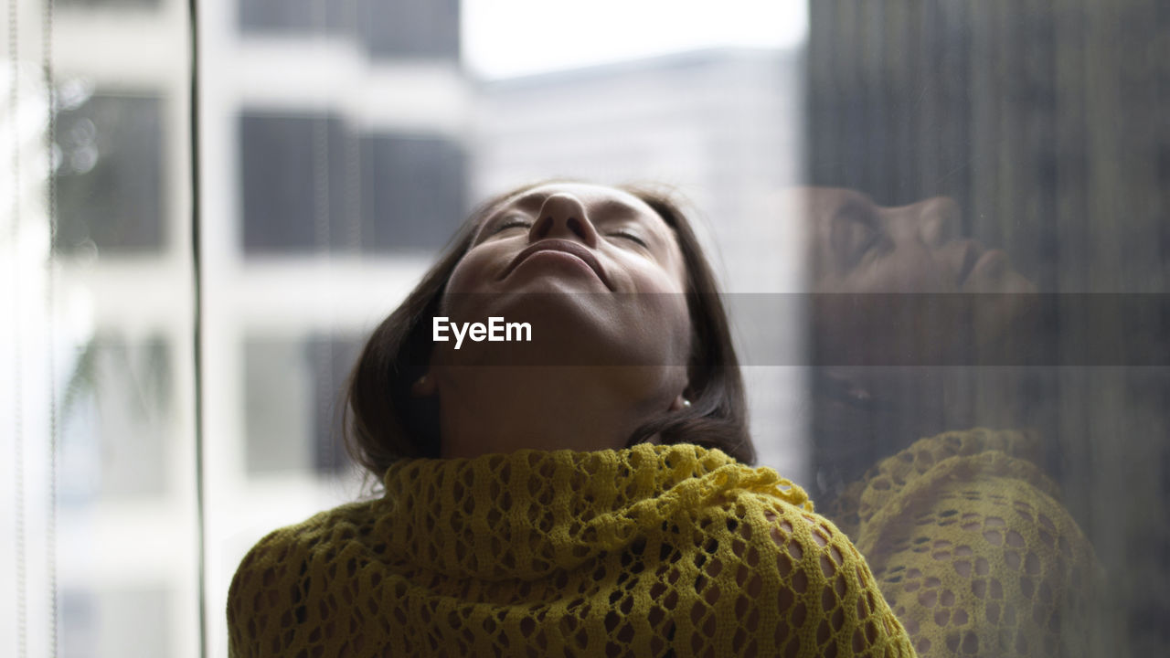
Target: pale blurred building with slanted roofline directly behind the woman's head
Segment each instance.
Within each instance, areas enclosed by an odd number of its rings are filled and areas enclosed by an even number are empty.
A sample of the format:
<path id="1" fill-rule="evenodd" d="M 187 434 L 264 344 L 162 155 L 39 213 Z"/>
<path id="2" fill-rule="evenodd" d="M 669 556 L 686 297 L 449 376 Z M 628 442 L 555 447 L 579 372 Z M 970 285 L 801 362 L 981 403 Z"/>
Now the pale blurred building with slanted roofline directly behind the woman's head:
<path id="1" fill-rule="evenodd" d="M 661 183 L 697 210 L 731 293 L 760 461 L 806 474 L 800 345 L 782 295 L 800 290 L 799 227 L 777 194 L 799 180 L 801 55 L 711 49 L 482 84 L 473 189 L 482 198 L 549 177 Z"/>

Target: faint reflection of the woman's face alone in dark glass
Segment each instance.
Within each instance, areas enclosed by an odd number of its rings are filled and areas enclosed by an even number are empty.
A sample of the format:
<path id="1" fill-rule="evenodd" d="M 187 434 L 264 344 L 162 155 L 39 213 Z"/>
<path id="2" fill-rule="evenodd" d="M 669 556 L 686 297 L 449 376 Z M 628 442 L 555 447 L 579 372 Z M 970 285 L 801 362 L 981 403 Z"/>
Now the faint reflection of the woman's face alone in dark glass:
<path id="1" fill-rule="evenodd" d="M 870 351 L 917 345 L 915 361 L 932 365 L 975 349 L 989 355 L 1023 335 L 1035 287 L 1003 251 L 958 234 L 955 201 L 883 207 L 851 190 L 801 196 L 813 292 L 832 294 L 817 297 L 813 321 L 825 341 L 842 341 L 825 345 L 833 354 L 860 349 L 863 338 Z"/>

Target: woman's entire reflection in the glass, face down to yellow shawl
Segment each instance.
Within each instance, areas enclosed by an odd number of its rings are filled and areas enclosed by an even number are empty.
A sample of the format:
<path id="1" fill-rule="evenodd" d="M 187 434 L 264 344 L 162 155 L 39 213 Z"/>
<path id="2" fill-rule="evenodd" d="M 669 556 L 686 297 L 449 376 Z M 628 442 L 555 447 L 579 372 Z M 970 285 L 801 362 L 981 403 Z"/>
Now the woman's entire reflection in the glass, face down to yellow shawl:
<path id="1" fill-rule="evenodd" d="M 824 502 L 918 653 L 1092 654 L 1093 551 L 1037 466 L 1038 437 L 943 432 L 1020 426 L 1012 369 L 955 364 L 1025 356 L 1034 287 L 958 235 L 949 199 L 881 207 L 806 189 L 794 201 L 811 227 L 815 358 L 833 364 L 817 369 L 814 450 L 853 480 Z M 907 354 L 914 366 L 888 365 Z"/>

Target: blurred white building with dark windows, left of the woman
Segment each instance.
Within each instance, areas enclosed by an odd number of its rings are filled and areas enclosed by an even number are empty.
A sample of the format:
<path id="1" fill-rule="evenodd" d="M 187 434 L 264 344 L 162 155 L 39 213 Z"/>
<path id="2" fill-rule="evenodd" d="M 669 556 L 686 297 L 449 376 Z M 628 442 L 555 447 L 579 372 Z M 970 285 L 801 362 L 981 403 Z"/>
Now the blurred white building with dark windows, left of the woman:
<path id="1" fill-rule="evenodd" d="M 58 403 L 67 657 L 197 656 L 200 543 L 226 653 L 243 553 L 359 493 L 337 436 L 357 341 L 466 214 L 457 0 L 198 9 L 193 125 L 186 2 L 56 4 L 55 245 L 88 313 Z"/>

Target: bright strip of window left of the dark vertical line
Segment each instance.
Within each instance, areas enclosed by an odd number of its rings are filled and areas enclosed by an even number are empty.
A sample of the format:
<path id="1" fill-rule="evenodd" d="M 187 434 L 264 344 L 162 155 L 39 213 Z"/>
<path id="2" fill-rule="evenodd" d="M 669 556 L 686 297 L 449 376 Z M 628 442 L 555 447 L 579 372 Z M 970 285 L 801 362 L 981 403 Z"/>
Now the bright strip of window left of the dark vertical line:
<path id="1" fill-rule="evenodd" d="M 193 30 L 168 7 L 0 19 L 0 656 L 199 654 Z"/>

